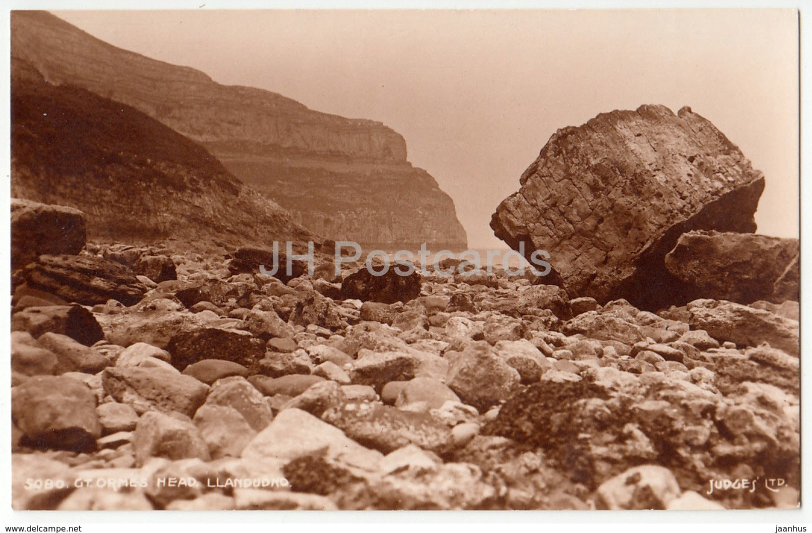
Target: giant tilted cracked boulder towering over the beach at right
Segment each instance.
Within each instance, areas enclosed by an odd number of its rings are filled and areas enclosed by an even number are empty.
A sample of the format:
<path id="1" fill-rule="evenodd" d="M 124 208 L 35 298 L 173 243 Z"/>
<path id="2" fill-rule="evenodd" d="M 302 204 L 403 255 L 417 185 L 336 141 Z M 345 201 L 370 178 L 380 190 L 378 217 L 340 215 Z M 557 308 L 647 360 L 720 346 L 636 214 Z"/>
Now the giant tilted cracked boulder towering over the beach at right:
<path id="1" fill-rule="evenodd" d="M 520 183 L 491 218 L 499 239 L 517 250 L 524 242 L 528 257 L 550 252 L 573 298 L 650 309 L 690 299 L 663 265 L 680 235 L 753 232 L 764 188 L 762 173 L 713 124 L 663 105 L 556 131 Z"/>

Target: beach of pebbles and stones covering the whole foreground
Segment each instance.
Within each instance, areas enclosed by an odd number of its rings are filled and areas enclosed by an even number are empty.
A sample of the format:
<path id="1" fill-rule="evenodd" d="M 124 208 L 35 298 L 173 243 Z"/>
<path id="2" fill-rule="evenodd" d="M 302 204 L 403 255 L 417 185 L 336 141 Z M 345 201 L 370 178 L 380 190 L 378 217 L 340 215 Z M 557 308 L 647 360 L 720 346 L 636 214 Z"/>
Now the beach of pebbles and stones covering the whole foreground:
<path id="1" fill-rule="evenodd" d="M 329 265 L 286 284 L 222 250 L 88 249 L 149 290 L 59 260 L 29 282 L 106 303 L 17 290 L 16 509 L 798 503 L 797 302 L 654 314 L 481 272 L 362 303 Z"/>

